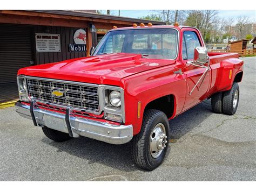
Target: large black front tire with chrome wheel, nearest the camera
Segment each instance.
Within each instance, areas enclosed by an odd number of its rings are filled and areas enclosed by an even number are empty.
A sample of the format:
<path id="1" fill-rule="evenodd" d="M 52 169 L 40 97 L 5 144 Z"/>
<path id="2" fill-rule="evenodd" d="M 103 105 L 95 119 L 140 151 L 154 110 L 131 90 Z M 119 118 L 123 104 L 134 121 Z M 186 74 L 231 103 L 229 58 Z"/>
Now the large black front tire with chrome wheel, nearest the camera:
<path id="1" fill-rule="evenodd" d="M 132 140 L 132 156 L 136 165 L 147 171 L 164 160 L 169 143 L 169 122 L 164 112 L 146 110 L 140 133 Z"/>

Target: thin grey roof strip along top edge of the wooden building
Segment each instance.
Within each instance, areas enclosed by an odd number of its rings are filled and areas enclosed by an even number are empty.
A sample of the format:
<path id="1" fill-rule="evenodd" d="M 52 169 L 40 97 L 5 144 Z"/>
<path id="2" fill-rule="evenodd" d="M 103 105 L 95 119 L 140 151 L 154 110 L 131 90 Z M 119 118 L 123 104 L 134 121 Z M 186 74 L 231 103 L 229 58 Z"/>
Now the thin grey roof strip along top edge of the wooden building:
<path id="1" fill-rule="evenodd" d="M 71 10 L 27 10 L 27 11 L 50 13 L 50 14 L 57 14 L 57 15 L 87 17 L 87 18 L 121 20 L 121 21 L 134 22 L 134 23 L 152 23 L 153 25 L 164 25 L 164 24 L 166 24 L 165 22 L 160 22 L 160 21 L 156 21 L 156 20 L 145 20 L 145 19 L 137 19 L 137 18 L 131 18 L 131 17 L 119 17 L 119 16 L 91 13 L 91 12 L 90 13 L 89 12 L 82 12 L 82 11 L 71 11 Z"/>

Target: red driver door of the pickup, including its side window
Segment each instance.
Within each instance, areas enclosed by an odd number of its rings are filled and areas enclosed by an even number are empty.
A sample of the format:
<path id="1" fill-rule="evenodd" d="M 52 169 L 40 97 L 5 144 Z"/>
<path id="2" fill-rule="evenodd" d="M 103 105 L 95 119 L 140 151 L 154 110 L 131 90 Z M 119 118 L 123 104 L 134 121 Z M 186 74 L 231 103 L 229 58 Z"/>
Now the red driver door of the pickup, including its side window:
<path id="1" fill-rule="evenodd" d="M 191 90 L 205 72 L 205 68 L 193 66 L 187 62 L 193 61 L 194 48 L 198 46 L 204 46 L 203 41 L 199 37 L 200 36 L 198 31 L 195 29 L 185 29 L 183 31 L 182 60 L 184 62 L 183 72 L 187 83 L 186 100 L 183 111 L 190 109 L 194 105 L 203 101 L 206 98 L 206 93 L 210 85 L 210 72 L 207 72 L 207 74 L 204 76 L 204 79 L 199 82 L 199 84 L 191 93 Z"/>

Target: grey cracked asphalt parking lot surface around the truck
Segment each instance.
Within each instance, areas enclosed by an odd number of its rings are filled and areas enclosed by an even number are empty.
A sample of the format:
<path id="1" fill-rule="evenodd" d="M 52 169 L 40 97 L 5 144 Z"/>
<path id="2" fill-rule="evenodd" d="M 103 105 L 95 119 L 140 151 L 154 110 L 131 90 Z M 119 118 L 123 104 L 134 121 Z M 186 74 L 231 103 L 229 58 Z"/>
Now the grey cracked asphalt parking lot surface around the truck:
<path id="1" fill-rule="evenodd" d="M 205 100 L 171 120 L 168 153 L 152 172 L 134 165 L 129 143 L 84 137 L 56 143 L 14 107 L 0 109 L 0 180 L 255 181 L 256 58 L 242 60 L 237 113 L 213 114 Z"/>

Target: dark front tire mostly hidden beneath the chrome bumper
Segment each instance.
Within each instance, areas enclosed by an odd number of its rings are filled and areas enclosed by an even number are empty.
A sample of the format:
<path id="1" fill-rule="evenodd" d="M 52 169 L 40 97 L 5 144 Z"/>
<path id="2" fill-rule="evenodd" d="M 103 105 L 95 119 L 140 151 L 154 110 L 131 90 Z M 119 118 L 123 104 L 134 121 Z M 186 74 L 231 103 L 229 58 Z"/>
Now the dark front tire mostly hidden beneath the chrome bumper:
<path id="1" fill-rule="evenodd" d="M 50 129 L 46 126 L 42 127 L 44 135 L 55 142 L 65 142 L 66 140 L 71 139 L 68 133 L 56 131 L 54 129 Z"/>

